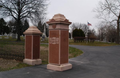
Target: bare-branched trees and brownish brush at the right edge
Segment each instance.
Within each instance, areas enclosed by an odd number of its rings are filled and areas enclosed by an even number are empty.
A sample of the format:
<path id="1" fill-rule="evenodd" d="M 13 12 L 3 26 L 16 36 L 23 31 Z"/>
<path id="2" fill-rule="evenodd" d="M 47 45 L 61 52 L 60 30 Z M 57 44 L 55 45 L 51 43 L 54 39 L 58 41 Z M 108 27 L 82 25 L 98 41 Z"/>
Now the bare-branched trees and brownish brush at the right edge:
<path id="1" fill-rule="evenodd" d="M 120 0 L 103 0 L 94 9 L 96 17 L 102 19 L 98 25 L 100 40 L 120 43 Z"/>

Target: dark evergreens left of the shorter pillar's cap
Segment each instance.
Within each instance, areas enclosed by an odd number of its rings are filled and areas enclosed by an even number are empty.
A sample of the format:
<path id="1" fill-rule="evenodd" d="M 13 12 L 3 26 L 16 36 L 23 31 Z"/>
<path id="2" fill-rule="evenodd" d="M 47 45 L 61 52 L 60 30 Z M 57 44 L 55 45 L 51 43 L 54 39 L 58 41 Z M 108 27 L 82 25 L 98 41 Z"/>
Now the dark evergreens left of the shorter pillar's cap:
<path id="1" fill-rule="evenodd" d="M 10 20 L 6 22 L 3 18 L 0 19 L 0 35 L 17 33 L 16 28 L 17 22 L 15 20 Z M 27 20 L 20 22 L 20 35 L 23 35 L 23 32 L 29 28 L 29 23 Z"/>

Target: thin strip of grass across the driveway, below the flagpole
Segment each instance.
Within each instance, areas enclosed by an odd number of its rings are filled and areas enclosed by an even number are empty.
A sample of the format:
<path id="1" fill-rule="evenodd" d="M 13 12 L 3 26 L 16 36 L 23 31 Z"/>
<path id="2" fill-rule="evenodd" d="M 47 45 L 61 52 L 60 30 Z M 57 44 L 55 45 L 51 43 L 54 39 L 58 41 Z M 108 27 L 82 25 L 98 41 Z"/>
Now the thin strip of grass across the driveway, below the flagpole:
<path id="1" fill-rule="evenodd" d="M 85 46 L 114 46 L 118 45 L 116 43 L 107 43 L 107 42 L 99 42 L 95 41 L 94 43 L 92 42 L 74 42 L 73 40 L 69 40 L 70 45 L 85 45 Z"/>

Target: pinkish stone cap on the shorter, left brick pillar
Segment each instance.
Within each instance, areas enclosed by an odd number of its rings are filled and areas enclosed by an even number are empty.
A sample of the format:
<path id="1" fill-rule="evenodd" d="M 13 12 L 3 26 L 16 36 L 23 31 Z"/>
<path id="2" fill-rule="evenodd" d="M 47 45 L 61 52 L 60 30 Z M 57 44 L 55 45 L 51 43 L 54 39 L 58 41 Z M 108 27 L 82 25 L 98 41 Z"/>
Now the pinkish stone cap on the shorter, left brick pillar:
<path id="1" fill-rule="evenodd" d="M 25 32 L 25 35 L 40 35 L 42 32 L 36 26 L 30 26 Z"/>

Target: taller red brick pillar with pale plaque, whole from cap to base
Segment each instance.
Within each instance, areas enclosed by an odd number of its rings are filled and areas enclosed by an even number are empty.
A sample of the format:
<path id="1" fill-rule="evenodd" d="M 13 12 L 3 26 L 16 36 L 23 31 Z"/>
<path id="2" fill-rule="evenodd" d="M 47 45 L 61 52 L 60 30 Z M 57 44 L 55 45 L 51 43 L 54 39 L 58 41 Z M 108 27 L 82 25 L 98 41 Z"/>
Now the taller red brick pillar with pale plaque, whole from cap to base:
<path id="1" fill-rule="evenodd" d="M 62 14 L 56 14 L 49 24 L 49 64 L 47 69 L 64 71 L 72 68 L 68 63 L 69 25 L 71 22 Z"/>

